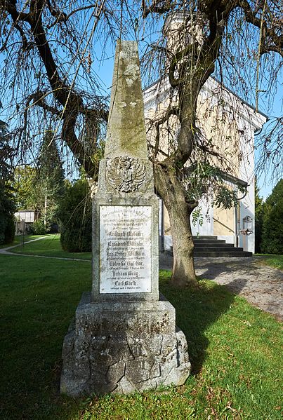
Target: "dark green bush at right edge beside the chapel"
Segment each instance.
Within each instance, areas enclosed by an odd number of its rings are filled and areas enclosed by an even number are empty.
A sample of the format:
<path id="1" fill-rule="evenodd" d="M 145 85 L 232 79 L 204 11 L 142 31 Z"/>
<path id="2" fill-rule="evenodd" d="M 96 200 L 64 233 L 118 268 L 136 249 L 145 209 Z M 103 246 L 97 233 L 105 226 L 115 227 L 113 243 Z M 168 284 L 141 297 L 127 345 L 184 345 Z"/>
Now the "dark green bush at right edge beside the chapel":
<path id="1" fill-rule="evenodd" d="M 283 179 L 280 179 L 265 202 L 261 251 L 283 254 Z"/>

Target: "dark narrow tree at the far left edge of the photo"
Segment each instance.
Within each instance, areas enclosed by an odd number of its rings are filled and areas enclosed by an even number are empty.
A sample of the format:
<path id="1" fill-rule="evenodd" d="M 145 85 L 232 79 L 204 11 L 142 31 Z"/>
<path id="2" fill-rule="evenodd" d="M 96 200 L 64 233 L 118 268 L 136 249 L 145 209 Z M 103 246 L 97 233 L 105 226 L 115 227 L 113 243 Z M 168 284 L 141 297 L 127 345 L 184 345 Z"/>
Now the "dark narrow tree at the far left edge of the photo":
<path id="1" fill-rule="evenodd" d="M 8 140 L 8 126 L 0 120 L 0 244 L 13 242 L 15 236 L 13 173 L 9 163 L 13 150 Z"/>

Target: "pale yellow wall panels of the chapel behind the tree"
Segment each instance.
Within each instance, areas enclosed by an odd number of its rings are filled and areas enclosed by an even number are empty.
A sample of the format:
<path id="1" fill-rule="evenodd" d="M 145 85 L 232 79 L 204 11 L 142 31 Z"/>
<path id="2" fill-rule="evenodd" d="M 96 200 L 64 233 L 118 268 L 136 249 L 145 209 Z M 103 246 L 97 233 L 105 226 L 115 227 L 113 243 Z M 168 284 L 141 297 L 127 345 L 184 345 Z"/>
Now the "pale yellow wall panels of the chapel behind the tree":
<path id="1" fill-rule="evenodd" d="M 214 101 L 214 102 L 213 102 Z M 174 103 L 171 103 L 174 105 Z M 155 135 L 154 124 L 150 128 L 150 120 L 157 121 L 164 115 L 167 107 L 169 107 L 169 98 L 165 102 L 159 102 L 157 109 L 149 109 L 145 114 L 147 124 L 147 139 L 151 144 L 150 153 L 154 151 Z M 221 170 L 239 176 L 240 165 L 240 148 L 239 148 L 239 131 L 235 117 L 232 111 L 223 110 L 221 102 L 216 102 L 213 96 L 202 99 L 199 95 L 197 106 L 197 126 L 200 128 L 202 135 L 206 141 L 213 144 L 213 149 L 221 154 L 221 158 L 211 156 L 211 164 L 218 166 Z M 178 130 L 178 120 L 176 116 L 171 116 L 168 123 L 160 126 L 159 153 L 157 159 L 163 160 L 176 149 L 176 132 Z M 234 208 L 223 210 L 213 208 L 213 234 L 216 236 L 225 236 L 234 234 L 235 216 Z M 165 211 L 165 234 L 170 235 L 169 217 Z M 212 220 L 211 220 L 212 223 Z M 224 225 L 224 226 L 223 226 Z"/>

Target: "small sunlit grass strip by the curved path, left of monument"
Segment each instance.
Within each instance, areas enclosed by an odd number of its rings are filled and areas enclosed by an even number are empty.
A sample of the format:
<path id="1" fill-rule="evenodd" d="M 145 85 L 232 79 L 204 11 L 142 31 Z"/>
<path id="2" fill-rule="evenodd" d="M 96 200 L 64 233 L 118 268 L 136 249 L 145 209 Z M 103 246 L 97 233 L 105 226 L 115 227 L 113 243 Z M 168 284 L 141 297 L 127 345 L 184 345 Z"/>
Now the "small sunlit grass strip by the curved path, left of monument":
<path id="1" fill-rule="evenodd" d="M 34 236 L 33 238 L 40 238 L 44 235 Z M 29 238 L 26 238 L 26 242 Z M 62 257 L 62 258 L 76 258 L 76 259 L 90 259 L 91 252 L 66 252 L 63 251 L 60 245 L 60 235 L 46 235 L 46 238 L 25 243 L 24 247 L 19 246 L 13 248 L 11 252 L 15 254 L 26 255 L 45 255 L 46 257 Z"/>

